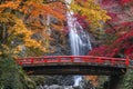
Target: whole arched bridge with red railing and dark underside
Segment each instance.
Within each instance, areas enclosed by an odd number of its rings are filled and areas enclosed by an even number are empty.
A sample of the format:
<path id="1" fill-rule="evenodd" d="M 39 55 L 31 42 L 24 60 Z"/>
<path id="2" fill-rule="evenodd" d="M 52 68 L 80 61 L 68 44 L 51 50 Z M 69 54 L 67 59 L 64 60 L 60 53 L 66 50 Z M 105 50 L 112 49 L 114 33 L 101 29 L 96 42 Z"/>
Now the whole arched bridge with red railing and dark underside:
<path id="1" fill-rule="evenodd" d="M 19 58 L 29 75 L 124 75 L 129 59 L 93 56 L 44 56 Z"/>

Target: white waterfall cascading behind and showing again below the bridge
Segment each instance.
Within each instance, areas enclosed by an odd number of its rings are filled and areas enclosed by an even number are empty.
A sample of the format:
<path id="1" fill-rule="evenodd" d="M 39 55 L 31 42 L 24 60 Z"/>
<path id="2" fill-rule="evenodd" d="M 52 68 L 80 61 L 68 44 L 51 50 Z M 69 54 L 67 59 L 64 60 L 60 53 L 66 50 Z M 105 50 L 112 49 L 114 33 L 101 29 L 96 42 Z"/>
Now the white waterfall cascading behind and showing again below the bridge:
<path id="1" fill-rule="evenodd" d="M 73 17 L 73 12 L 68 12 L 68 27 L 72 56 L 85 56 L 92 49 L 89 33 Z M 81 76 L 74 76 L 74 86 L 79 86 Z"/>

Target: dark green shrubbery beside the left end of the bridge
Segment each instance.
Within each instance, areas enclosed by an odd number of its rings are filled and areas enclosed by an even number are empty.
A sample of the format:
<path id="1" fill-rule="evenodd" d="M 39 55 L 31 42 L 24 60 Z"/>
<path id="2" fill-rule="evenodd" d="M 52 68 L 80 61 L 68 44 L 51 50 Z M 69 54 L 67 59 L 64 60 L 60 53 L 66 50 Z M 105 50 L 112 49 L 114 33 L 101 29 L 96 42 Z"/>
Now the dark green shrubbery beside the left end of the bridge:
<path id="1" fill-rule="evenodd" d="M 0 57 L 0 89 L 35 89 L 35 85 L 21 67 L 7 56 Z"/>

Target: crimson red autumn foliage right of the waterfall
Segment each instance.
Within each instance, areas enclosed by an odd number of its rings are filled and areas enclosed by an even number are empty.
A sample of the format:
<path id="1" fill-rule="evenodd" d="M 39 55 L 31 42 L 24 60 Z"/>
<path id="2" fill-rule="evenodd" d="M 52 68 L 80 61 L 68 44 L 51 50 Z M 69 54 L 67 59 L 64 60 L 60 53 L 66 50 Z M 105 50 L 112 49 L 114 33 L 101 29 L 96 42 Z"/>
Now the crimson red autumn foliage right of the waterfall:
<path id="1" fill-rule="evenodd" d="M 112 19 L 106 22 L 108 28 L 104 36 L 108 38 L 104 39 L 103 44 L 94 48 L 90 55 L 133 58 L 132 4 L 132 0 L 102 0 L 102 8 L 108 10 L 108 14 Z"/>

